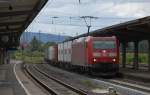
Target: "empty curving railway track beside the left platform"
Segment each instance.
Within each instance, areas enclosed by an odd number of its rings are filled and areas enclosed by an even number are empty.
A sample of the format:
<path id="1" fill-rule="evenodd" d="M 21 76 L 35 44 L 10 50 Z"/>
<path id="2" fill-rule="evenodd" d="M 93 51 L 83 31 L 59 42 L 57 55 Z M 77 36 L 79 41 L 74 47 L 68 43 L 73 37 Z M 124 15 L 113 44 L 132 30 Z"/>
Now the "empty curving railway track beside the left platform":
<path id="1" fill-rule="evenodd" d="M 60 81 L 35 66 L 25 66 L 26 72 L 51 95 L 91 95 Z"/>

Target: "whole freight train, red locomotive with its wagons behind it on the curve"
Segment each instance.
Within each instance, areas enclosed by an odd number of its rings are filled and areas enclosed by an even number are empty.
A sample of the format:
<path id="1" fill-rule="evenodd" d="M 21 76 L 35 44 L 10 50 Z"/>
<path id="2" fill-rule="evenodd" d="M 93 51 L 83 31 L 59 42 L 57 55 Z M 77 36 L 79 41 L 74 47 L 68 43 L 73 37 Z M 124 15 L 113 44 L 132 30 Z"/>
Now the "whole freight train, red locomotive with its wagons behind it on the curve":
<path id="1" fill-rule="evenodd" d="M 119 42 L 114 36 L 81 37 L 50 46 L 45 60 L 87 73 L 116 74 L 119 71 Z"/>

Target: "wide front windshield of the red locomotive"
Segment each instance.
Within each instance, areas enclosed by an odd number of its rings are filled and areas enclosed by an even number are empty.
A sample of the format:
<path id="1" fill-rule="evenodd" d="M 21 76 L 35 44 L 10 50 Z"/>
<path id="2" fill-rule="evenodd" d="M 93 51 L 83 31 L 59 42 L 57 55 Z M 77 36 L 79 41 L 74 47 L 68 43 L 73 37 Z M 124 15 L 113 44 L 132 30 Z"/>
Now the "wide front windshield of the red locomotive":
<path id="1" fill-rule="evenodd" d="M 115 41 L 94 41 L 94 49 L 113 49 L 115 48 Z"/>

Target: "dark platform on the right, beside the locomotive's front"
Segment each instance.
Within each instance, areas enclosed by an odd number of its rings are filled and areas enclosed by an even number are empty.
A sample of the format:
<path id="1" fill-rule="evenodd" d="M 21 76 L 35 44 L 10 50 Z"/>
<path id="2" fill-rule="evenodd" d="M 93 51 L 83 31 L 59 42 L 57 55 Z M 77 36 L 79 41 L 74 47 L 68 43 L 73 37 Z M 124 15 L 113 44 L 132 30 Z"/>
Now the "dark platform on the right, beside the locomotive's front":
<path id="1" fill-rule="evenodd" d="M 150 72 L 145 70 L 135 70 L 132 68 L 120 68 L 120 72 L 128 79 L 150 83 Z"/>

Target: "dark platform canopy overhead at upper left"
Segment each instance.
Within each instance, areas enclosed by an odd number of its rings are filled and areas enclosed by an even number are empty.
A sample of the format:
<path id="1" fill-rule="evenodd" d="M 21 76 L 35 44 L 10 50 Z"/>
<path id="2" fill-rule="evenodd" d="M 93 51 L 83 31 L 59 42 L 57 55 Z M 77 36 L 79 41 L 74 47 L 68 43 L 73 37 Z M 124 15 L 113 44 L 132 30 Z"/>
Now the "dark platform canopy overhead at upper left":
<path id="1" fill-rule="evenodd" d="M 19 45 L 22 32 L 48 0 L 0 0 L 0 47 Z"/>

